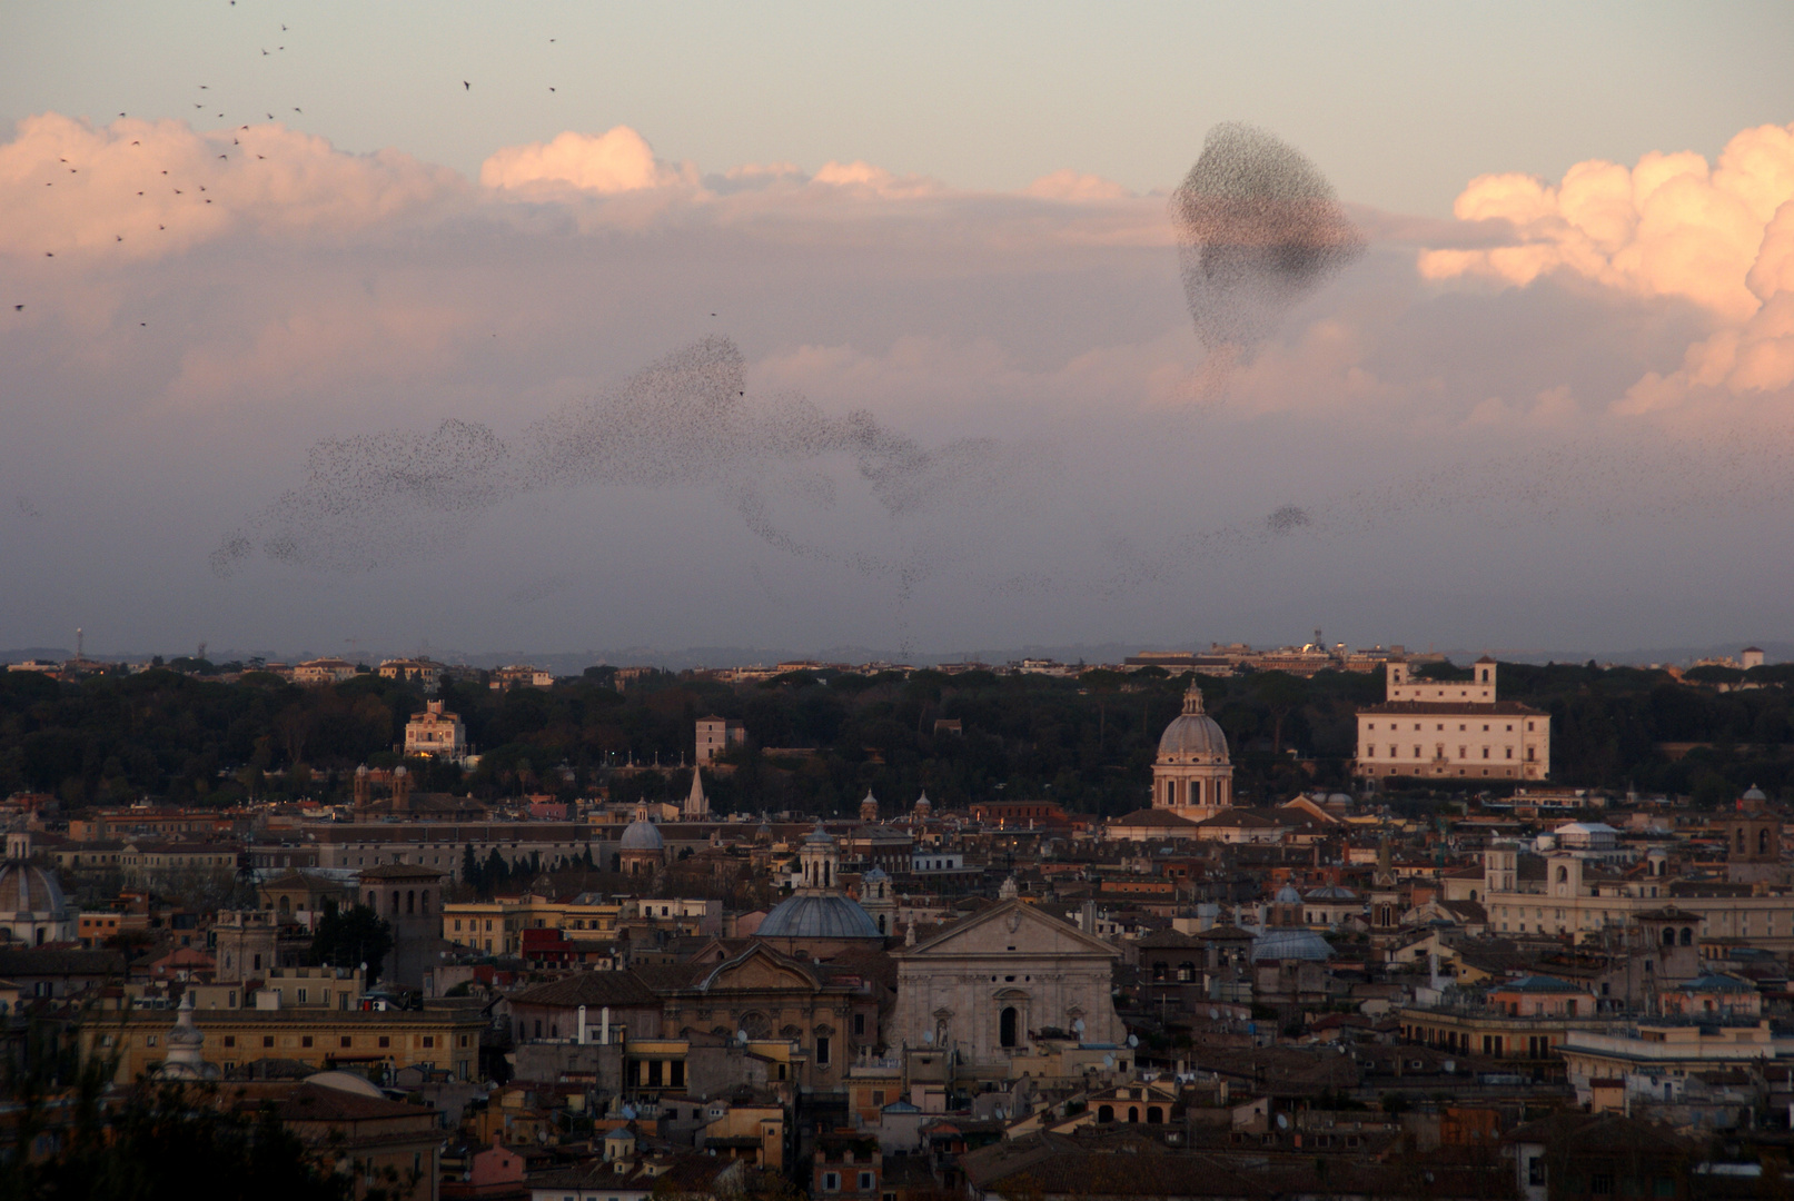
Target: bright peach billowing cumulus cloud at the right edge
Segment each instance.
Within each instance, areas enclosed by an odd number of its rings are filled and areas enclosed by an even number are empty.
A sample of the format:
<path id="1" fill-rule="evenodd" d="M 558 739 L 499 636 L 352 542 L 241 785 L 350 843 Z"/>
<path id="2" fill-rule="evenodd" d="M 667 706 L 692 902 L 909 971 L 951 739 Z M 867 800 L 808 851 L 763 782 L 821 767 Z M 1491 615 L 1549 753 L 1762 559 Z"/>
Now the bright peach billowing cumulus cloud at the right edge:
<path id="1" fill-rule="evenodd" d="M 1462 220 L 1512 229 L 1500 246 L 1430 249 L 1428 280 L 1478 276 L 1525 287 L 1563 271 L 1645 298 L 1679 298 L 1720 326 L 1668 373 L 1645 373 L 1622 414 L 1674 409 L 1694 393 L 1776 393 L 1794 384 L 1794 125 L 1738 133 L 1717 165 L 1694 152 L 1636 167 L 1577 163 L 1557 185 L 1480 176 Z"/>

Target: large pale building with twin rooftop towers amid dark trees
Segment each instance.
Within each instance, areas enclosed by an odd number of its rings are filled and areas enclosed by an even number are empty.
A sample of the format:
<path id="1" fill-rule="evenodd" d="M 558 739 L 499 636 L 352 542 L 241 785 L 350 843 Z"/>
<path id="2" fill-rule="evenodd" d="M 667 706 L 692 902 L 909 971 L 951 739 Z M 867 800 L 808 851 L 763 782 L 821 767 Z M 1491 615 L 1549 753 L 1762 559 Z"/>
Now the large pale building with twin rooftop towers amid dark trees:
<path id="1" fill-rule="evenodd" d="M 1550 713 L 1496 699 L 1494 660 L 1476 660 L 1467 681 L 1414 679 L 1406 663 L 1389 663 L 1385 672 L 1387 699 L 1358 710 L 1356 774 L 1464 780 L 1552 774 Z"/>

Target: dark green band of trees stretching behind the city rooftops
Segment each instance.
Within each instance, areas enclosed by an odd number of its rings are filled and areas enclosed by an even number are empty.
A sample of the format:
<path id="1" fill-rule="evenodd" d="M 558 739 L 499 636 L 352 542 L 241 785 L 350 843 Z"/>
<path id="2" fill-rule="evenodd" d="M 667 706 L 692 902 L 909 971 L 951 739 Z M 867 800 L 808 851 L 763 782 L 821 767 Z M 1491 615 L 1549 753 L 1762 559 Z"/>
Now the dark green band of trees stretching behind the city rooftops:
<path id="1" fill-rule="evenodd" d="M 1794 783 L 1790 676 L 1787 667 L 1747 678 L 1699 669 L 1676 681 L 1656 670 L 1505 663 L 1500 687 L 1503 699 L 1552 715 L 1555 783 L 1719 803 L 1751 783 L 1772 794 Z M 718 810 L 852 812 L 872 791 L 890 814 L 927 791 L 945 807 L 1030 798 L 1114 814 L 1146 803 L 1159 735 L 1189 683 L 1159 669 L 1078 679 L 793 672 L 739 687 L 655 674 L 626 692 L 612 679 L 612 669 L 592 669 L 547 690 L 445 683 L 438 699 L 461 715 L 483 758 L 468 773 L 413 762 L 414 787 L 484 799 L 596 789 L 623 801 L 678 799 L 691 783 L 680 764 L 691 762 L 694 722 L 719 713 L 746 724 L 750 746 L 730 753 L 730 771 L 705 776 Z M 1383 699 L 1381 676 L 1369 674 L 1198 683 L 1245 801 L 1347 789 L 1354 713 Z M 52 792 L 68 807 L 144 796 L 341 799 L 357 765 L 400 762 L 405 721 L 422 706 L 414 685 L 370 674 L 301 688 L 266 672 L 237 683 L 174 670 L 79 683 L 9 672 L 0 676 L 0 794 Z M 960 733 L 942 721 L 958 721 Z M 1711 746 L 1672 762 L 1665 742 Z M 793 749 L 804 753 L 779 753 Z M 635 771 L 615 771 L 630 764 Z"/>

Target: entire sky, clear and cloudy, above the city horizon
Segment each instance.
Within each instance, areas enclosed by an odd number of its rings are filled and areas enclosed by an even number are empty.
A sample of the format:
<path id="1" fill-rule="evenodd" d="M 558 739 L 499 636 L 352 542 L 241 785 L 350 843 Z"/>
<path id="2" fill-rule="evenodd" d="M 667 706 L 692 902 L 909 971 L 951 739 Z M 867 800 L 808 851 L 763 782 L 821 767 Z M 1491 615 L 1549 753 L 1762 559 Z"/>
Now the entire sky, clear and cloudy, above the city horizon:
<path id="1" fill-rule="evenodd" d="M 1789 61 L 1787 5 L 7 5 L 0 647 L 1780 638 Z M 1229 122 L 1353 231 L 1268 308 L 1184 276 Z"/>

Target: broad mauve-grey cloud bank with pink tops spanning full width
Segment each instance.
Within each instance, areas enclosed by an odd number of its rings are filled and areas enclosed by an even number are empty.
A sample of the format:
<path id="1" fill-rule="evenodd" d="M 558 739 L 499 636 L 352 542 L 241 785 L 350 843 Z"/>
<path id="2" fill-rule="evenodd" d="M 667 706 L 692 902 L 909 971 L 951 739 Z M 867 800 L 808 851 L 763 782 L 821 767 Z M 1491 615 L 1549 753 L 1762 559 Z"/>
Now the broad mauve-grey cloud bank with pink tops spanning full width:
<path id="1" fill-rule="evenodd" d="M 990 194 L 700 167 L 617 125 L 470 181 L 276 120 L 34 117 L 0 143 L 0 552 L 39 586 L 0 624 L 1747 633 L 1794 584 L 1765 554 L 1794 445 L 1789 142 L 1482 176 L 1451 220 L 1295 170 L 1270 192 L 1319 233 L 1292 242 L 1227 170 L 1182 206 L 1075 167 Z M 1215 247 L 1299 287 L 1241 333 L 1204 269 L 1198 315 L 1184 269 Z M 1225 387 L 1191 387 L 1222 355 Z"/>

